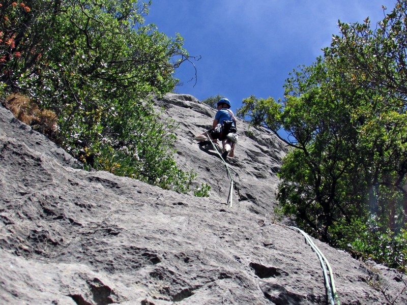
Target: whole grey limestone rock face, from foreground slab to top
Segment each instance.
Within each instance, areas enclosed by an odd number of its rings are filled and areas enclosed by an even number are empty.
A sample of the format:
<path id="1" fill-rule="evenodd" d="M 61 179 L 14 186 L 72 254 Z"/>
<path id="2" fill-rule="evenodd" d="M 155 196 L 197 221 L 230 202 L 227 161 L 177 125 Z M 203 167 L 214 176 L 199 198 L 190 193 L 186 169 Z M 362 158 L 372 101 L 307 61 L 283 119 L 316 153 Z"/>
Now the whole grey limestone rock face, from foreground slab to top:
<path id="1" fill-rule="evenodd" d="M 4 304 L 324 304 L 316 254 L 297 230 L 273 222 L 282 142 L 238 121 L 230 182 L 212 149 L 192 137 L 215 110 L 188 95 L 156 101 L 180 123 L 177 161 L 209 198 L 88 172 L 0 107 L 0 299 Z M 266 132 L 264 132 L 266 133 Z M 405 287 L 318 240 L 341 304 L 384 304 Z M 404 297 L 404 298 L 403 298 Z M 398 297 L 405 303 L 405 295 Z"/>

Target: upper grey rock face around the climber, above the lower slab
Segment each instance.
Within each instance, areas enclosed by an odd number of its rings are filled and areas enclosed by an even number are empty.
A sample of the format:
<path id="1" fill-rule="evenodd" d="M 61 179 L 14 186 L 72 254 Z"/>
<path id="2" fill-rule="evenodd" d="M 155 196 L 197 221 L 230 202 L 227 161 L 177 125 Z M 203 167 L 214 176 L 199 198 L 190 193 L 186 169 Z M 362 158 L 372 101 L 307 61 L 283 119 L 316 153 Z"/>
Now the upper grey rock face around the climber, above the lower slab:
<path id="1" fill-rule="evenodd" d="M 225 165 L 212 144 L 201 147 L 193 140 L 194 135 L 212 127 L 216 109 L 199 103 L 193 96 L 178 94 L 166 94 L 161 100 L 155 100 L 155 105 L 157 110 L 163 111 L 161 117 L 179 123 L 176 131 L 179 166 L 196 172 L 196 187 L 202 182 L 208 184 L 211 199 L 226 204 L 230 180 Z M 250 128 L 246 121 L 237 119 L 237 129 L 239 139 L 235 157 L 227 159 L 234 180 L 232 206 L 270 218 L 278 184 L 276 173 L 287 148 L 266 129 Z"/>

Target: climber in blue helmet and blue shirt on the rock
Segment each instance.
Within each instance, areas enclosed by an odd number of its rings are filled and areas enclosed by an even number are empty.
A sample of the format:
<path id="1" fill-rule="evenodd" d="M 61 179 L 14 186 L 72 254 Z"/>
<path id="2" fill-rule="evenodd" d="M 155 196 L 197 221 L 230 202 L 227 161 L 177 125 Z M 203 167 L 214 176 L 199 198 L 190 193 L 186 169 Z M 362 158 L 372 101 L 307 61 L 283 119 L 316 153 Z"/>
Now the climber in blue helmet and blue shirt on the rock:
<path id="1" fill-rule="evenodd" d="M 228 99 L 220 99 L 217 103 L 217 112 L 213 120 L 212 129 L 195 136 L 195 140 L 206 143 L 209 139 L 219 139 L 222 141 L 223 153 L 222 158 L 226 160 L 227 156 L 234 157 L 235 143 L 237 142 L 236 119 L 233 112 L 229 109 L 230 102 Z"/>

